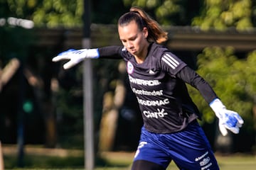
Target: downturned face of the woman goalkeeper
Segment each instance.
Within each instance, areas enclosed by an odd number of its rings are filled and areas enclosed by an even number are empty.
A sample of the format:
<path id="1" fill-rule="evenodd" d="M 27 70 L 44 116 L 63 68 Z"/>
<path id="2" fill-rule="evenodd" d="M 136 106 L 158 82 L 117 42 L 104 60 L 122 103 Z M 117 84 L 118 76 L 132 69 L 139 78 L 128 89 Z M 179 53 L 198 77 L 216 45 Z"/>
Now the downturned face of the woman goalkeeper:
<path id="1" fill-rule="evenodd" d="M 131 21 L 125 26 L 118 26 L 119 38 L 126 49 L 136 57 L 144 56 L 147 52 L 149 42 L 146 40 L 148 35 L 147 28 L 139 30 L 137 23 Z"/>

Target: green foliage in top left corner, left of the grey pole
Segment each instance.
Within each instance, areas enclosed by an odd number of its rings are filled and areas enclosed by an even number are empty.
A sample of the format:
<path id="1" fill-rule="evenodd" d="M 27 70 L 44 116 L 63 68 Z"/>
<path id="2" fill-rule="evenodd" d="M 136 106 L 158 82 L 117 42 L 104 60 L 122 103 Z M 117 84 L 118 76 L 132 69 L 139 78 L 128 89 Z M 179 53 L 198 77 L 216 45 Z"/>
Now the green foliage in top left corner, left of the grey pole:
<path id="1" fill-rule="evenodd" d="M 8 0 L 0 4 L 3 16 L 31 19 L 36 26 L 82 25 L 83 0 Z"/>

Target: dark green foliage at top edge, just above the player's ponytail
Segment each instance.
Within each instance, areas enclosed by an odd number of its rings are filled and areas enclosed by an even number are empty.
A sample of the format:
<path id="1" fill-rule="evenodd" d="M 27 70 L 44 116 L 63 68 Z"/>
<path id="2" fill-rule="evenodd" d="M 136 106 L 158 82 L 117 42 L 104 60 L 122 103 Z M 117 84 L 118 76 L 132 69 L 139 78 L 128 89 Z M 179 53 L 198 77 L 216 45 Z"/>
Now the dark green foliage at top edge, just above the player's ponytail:
<path id="1" fill-rule="evenodd" d="M 200 0 L 123 0 L 124 6 L 139 6 L 161 25 L 188 26 L 200 11 Z"/>

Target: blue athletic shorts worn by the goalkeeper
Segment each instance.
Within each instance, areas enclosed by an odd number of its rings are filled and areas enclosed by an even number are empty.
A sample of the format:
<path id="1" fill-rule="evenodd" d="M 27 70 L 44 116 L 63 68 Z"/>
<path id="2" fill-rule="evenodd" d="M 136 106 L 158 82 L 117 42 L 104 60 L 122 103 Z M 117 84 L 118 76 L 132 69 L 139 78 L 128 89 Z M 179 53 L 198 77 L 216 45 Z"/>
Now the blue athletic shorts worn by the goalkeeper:
<path id="1" fill-rule="evenodd" d="M 134 162 L 145 160 L 160 164 L 164 168 L 173 160 L 179 169 L 217 170 L 210 144 L 197 121 L 190 123 L 181 131 L 169 134 L 158 134 L 142 128 Z"/>

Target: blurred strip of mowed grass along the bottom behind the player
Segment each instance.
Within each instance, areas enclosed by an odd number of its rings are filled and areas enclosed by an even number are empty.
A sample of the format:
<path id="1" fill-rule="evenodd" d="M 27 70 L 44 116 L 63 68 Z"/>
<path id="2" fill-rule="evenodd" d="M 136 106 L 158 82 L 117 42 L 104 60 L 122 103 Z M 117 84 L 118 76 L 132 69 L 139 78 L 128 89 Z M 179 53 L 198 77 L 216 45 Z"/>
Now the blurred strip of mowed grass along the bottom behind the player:
<path id="1" fill-rule="evenodd" d="M 102 152 L 95 158 L 95 170 L 128 170 L 132 164 L 134 152 Z M 221 170 L 255 170 L 255 154 L 216 155 Z M 25 150 L 22 169 L 68 170 L 84 169 L 82 150 L 29 149 Z M 17 168 L 17 154 L 4 149 L 5 169 Z M 167 170 L 178 170 L 171 162 Z"/>

